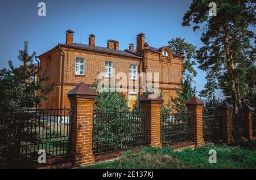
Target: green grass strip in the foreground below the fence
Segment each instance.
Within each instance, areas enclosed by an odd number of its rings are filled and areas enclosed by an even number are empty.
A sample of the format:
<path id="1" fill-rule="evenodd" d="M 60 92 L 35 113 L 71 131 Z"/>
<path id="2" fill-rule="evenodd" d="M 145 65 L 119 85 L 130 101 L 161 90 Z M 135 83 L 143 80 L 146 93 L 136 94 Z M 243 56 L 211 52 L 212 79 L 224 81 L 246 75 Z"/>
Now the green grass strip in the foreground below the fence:
<path id="1" fill-rule="evenodd" d="M 217 163 L 208 162 L 209 150 L 217 152 Z M 196 149 L 173 151 L 170 148 L 143 148 L 126 152 L 115 161 L 84 168 L 256 168 L 256 142 L 234 145 L 207 145 Z"/>

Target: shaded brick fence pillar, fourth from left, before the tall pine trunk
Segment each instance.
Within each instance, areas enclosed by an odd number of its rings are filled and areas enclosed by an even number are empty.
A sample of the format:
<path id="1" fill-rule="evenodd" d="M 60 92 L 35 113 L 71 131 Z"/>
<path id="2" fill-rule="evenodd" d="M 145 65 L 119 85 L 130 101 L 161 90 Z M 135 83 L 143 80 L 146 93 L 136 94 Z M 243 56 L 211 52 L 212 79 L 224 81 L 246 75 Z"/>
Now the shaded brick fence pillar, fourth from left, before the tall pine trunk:
<path id="1" fill-rule="evenodd" d="M 222 140 L 227 144 L 234 142 L 232 136 L 232 109 L 233 106 L 225 100 L 217 107 L 217 113 L 221 116 L 220 135 Z"/>

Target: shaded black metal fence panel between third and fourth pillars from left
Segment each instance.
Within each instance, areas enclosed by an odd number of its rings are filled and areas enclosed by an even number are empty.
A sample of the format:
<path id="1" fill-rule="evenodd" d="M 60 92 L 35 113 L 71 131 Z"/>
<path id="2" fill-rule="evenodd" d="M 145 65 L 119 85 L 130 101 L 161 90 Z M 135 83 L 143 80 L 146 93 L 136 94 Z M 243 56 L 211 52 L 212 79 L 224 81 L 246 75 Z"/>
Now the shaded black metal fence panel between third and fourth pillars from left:
<path id="1" fill-rule="evenodd" d="M 205 142 L 215 141 L 219 138 L 220 118 L 220 115 L 203 116 L 203 135 Z"/>

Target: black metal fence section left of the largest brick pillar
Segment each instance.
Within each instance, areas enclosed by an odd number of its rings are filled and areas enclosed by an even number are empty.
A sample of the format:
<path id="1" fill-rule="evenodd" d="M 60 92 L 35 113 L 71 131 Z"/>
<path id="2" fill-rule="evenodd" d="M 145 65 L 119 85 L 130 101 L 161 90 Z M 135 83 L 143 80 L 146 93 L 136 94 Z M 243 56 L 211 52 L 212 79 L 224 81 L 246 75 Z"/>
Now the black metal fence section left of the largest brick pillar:
<path id="1" fill-rule="evenodd" d="M 66 155 L 70 119 L 71 109 L 26 109 L 12 114 L 10 122 L 1 121 L 1 134 L 6 134 L 6 139 L 1 140 L 9 142 L 9 146 L 15 144 L 1 151 L 2 163 L 10 157 L 19 161 L 37 159 L 40 149 L 47 157 Z"/>

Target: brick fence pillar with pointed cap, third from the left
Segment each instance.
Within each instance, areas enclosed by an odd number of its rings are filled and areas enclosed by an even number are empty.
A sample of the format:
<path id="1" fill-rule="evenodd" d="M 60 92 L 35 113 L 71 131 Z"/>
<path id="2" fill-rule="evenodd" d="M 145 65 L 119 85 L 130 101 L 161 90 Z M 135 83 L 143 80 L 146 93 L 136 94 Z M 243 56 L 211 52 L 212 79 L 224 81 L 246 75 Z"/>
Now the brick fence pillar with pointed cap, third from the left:
<path id="1" fill-rule="evenodd" d="M 204 145 L 203 136 L 203 108 L 204 102 L 193 96 L 186 103 L 188 112 L 191 113 L 191 138 L 196 146 Z"/>

